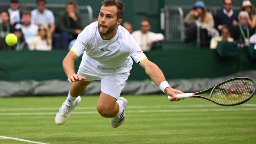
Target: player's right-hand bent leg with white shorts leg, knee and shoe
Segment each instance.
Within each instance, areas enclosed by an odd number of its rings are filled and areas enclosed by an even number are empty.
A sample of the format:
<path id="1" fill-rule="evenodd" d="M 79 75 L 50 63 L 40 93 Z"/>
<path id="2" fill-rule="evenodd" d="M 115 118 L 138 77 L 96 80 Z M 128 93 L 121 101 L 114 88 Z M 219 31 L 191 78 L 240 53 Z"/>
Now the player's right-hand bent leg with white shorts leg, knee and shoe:
<path id="1" fill-rule="evenodd" d="M 129 73 L 109 75 L 101 79 L 101 95 L 97 110 L 103 117 L 109 117 L 112 127 L 117 128 L 125 120 L 124 110 L 127 100 L 119 97 L 128 79 Z"/>

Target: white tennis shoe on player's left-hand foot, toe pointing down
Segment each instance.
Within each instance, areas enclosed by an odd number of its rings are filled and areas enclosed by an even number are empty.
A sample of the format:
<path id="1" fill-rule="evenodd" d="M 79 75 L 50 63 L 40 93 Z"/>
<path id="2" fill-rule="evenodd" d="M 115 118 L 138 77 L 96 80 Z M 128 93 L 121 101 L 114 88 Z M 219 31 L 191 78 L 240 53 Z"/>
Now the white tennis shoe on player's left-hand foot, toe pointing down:
<path id="1" fill-rule="evenodd" d="M 80 102 L 80 96 L 76 98 L 76 103 L 73 106 L 67 106 L 64 102 L 56 114 L 55 123 L 58 125 L 65 123 L 70 117 L 72 110 L 75 109 L 80 104 Z"/>

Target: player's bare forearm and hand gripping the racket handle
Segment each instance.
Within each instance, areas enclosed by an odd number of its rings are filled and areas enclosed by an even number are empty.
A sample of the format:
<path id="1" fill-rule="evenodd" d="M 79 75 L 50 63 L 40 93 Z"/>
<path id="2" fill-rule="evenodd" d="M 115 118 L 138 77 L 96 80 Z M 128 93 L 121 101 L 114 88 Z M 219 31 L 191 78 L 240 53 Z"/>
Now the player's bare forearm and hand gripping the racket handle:
<path id="1" fill-rule="evenodd" d="M 149 61 L 148 59 L 145 59 L 144 61 L 142 61 L 140 63 L 140 66 L 142 66 L 145 69 L 146 74 L 151 78 L 151 80 L 156 85 L 160 86 L 160 88 L 161 88 L 161 85 L 164 85 L 164 83 L 165 83 L 164 74 L 156 64 Z M 178 101 L 178 98 L 176 97 L 176 94 L 182 94 L 183 93 L 182 91 L 177 90 L 177 89 L 173 89 L 170 86 L 166 87 L 164 89 L 164 92 L 167 95 L 173 97 L 173 99 L 171 99 L 171 101 Z"/>

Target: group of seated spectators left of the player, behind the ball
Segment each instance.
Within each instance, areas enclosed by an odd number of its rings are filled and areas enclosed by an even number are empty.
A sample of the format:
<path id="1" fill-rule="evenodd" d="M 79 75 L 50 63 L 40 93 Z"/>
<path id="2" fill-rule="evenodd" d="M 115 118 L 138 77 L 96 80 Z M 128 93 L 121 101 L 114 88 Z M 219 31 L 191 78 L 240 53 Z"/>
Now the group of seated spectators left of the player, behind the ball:
<path id="1" fill-rule="evenodd" d="M 19 9 L 19 0 L 11 0 L 10 8 L 0 13 L 1 50 L 68 49 L 69 43 L 82 31 L 82 20 L 76 4 L 68 2 L 66 10 L 58 17 L 56 25 L 52 11 L 46 9 L 46 0 L 37 0 L 32 11 Z M 5 37 L 14 33 L 18 42 L 14 46 L 5 43 Z"/>

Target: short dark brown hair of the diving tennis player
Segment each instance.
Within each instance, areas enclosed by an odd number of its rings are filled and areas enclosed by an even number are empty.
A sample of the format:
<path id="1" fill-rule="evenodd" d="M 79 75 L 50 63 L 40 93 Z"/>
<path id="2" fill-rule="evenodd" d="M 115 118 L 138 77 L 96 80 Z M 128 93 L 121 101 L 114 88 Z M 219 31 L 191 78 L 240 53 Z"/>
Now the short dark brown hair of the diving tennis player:
<path id="1" fill-rule="evenodd" d="M 124 16 L 124 3 L 119 0 L 104 0 L 102 6 L 116 6 L 117 7 L 117 19 L 122 19 Z"/>

